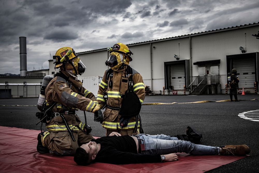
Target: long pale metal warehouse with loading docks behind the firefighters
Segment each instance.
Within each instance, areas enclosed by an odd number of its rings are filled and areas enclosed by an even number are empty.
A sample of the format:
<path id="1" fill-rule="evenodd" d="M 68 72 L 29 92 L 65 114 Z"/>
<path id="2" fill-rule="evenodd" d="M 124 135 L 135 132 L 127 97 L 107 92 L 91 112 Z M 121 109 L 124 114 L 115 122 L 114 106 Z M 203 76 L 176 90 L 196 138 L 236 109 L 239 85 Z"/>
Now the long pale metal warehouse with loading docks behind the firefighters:
<path id="1" fill-rule="evenodd" d="M 166 94 L 183 94 L 184 86 L 186 94 L 223 94 L 227 73 L 233 68 L 238 72 L 239 88 L 255 93 L 259 39 L 253 35 L 258 32 L 259 22 L 128 44 L 134 53 L 130 66 L 142 75 L 154 94 L 161 94 L 163 86 Z M 109 58 L 106 49 L 77 54 L 87 67 L 83 77 L 103 76 Z M 54 69 L 52 62 L 49 64 L 49 69 Z"/>

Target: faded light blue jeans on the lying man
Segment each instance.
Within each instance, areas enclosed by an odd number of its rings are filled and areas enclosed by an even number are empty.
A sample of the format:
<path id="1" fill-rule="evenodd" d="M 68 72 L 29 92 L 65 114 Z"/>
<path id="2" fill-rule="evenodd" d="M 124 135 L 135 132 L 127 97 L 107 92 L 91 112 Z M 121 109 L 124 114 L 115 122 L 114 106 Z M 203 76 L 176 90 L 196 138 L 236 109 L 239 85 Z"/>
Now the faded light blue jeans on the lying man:
<path id="1" fill-rule="evenodd" d="M 191 143 L 190 141 L 178 140 L 177 137 L 167 135 L 147 135 L 138 134 L 141 143 L 145 145 L 145 151 L 141 154 L 170 154 L 170 153 L 189 153 L 192 155 L 217 155 L 219 147 L 211 147 Z M 140 142 L 139 140 L 139 142 Z"/>

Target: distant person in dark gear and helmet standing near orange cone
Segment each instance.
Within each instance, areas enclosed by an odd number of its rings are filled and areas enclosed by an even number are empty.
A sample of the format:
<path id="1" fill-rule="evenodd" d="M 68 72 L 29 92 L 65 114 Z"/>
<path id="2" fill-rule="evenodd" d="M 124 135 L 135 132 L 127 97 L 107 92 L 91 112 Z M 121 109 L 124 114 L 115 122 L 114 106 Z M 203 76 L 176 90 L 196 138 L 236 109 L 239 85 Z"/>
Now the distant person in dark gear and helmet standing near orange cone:
<path id="1" fill-rule="evenodd" d="M 234 68 L 231 71 L 231 80 L 228 83 L 228 86 L 230 89 L 229 91 L 230 101 L 233 101 L 233 95 L 234 95 L 235 101 L 239 101 L 237 96 L 238 82 L 239 82 L 238 75 L 236 75 L 236 69 Z"/>

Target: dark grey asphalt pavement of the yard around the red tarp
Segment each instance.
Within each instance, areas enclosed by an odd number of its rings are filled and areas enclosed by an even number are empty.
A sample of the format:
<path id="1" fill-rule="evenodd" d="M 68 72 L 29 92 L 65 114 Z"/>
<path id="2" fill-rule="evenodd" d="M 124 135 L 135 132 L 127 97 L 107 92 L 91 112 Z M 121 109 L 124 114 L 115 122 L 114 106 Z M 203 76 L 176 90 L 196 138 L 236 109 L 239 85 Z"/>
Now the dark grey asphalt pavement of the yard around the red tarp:
<path id="1" fill-rule="evenodd" d="M 238 116 L 244 112 L 259 110 L 259 100 L 252 100 L 259 99 L 259 95 L 239 94 L 240 102 L 215 102 L 227 99 L 229 95 L 225 94 L 146 96 L 143 103 L 181 104 L 143 105 L 140 115 L 144 133 L 185 134 L 186 127 L 192 126 L 203 134 L 203 145 L 247 144 L 251 149 L 249 157 L 208 172 L 259 172 L 259 121 Z M 189 103 L 203 100 L 213 102 Z M 0 99 L 0 126 L 40 130 L 40 124 L 35 125 L 39 121 L 35 116 L 38 112 L 35 106 L 37 102 L 38 98 Z M 77 114 L 84 122 L 83 111 L 78 111 Z M 93 121 L 93 113 L 86 112 L 86 115 L 87 124 L 93 129 L 91 134 L 104 136 L 105 129 L 99 122 Z M 44 124 L 42 129 L 46 130 Z"/>

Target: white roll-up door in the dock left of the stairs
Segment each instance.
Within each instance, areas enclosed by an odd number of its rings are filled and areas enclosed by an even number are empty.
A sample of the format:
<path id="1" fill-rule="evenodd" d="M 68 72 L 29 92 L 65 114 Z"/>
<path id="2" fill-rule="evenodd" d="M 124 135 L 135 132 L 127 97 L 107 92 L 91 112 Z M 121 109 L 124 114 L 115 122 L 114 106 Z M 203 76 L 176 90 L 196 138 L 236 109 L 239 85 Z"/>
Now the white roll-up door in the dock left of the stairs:
<path id="1" fill-rule="evenodd" d="M 171 65 L 171 85 L 173 90 L 183 90 L 185 85 L 184 64 Z"/>

